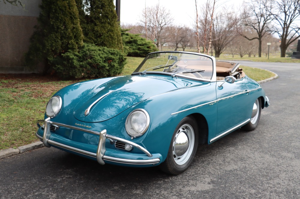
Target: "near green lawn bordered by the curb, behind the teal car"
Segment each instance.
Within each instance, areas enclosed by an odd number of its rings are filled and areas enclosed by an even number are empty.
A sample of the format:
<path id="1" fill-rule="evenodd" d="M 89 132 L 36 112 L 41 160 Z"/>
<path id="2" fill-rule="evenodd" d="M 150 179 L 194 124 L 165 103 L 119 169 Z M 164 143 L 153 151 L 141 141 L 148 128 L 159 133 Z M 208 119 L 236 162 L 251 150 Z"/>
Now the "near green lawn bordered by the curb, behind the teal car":
<path id="1" fill-rule="evenodd" d="M 121 75 L 131 74 L 143 58 L 127 57 Z M 241 67 L 256 81 L 273 76 L 268 71 Z M 17 148 L 38 141 L 36 120 L 44 119 L 50 97 L 75 81 L 53 80 L 52 77 L 0 75 L 0 149 Z"/>

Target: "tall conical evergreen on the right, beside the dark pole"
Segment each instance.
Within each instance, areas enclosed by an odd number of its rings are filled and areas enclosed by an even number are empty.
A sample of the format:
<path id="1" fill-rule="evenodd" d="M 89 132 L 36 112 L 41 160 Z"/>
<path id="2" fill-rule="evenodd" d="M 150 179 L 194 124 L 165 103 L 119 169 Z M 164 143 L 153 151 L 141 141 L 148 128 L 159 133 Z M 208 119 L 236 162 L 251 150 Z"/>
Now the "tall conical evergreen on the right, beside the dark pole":
<path id="1" fill-rule="evenodd" d="M 80 16 L 84 42 L 122 50 L 121 30 L 113 0 L 76 2 L 79 13 L 84 14 L 84 17 Z"/>

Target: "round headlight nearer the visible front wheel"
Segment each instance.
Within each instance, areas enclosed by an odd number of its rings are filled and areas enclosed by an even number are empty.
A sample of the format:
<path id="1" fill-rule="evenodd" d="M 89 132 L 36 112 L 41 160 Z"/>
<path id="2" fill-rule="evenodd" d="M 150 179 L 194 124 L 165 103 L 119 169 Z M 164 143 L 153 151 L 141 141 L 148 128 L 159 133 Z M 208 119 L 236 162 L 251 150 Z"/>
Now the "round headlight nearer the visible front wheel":
<path id="1" fill-rule="evenodd" d="M 148 129 L 150 117 L 144 109 L 132 111 L 126 119 L 126 131 L 131 137 L 140 137 Z"/>

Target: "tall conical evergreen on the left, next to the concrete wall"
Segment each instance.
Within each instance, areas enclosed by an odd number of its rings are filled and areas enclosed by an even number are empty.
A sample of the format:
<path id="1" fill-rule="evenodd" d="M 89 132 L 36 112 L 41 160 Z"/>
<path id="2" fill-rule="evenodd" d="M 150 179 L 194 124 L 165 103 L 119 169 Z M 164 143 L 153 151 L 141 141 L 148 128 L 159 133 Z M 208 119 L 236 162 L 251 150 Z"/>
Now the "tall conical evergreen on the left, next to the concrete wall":
<path id="1" fill-rule="evenodd" d="M 83 34 L 75 0 L 43 0 L 40 8 L 25 59 L 29 66 L 44 62 L 45 73 L 51 68 L 51 59 L 82 47 Z"/>

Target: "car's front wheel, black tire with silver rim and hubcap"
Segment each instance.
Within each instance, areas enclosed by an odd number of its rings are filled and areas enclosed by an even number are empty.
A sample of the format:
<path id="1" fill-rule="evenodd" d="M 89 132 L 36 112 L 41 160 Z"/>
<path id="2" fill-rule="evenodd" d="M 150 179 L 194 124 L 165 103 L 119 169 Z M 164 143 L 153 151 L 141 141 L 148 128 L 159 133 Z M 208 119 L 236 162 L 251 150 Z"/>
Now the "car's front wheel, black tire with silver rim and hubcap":
<path id="1" fill-rule="evenodd" d="M 167 158 L 161 163 L 160 169 L 172 175 L 184 172 L 196 154 L 198 140 L 198 126 L 195 119 L 184 117 L 174 131 Z"/>

